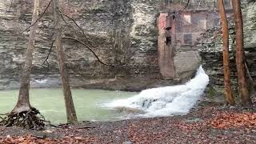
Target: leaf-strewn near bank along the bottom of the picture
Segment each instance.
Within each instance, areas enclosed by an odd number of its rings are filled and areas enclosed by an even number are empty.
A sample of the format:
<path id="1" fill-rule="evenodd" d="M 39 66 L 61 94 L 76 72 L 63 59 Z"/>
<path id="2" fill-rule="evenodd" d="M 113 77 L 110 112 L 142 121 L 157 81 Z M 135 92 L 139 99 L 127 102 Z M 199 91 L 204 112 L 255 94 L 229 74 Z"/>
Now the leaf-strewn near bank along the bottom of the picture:
<path id="1" fill-rule="evenodd" d="M 256 106 L 201 102 L 184 116 L 81 122 L 42 131 L 0 130 L 0 143 L 255 143 Z"/>

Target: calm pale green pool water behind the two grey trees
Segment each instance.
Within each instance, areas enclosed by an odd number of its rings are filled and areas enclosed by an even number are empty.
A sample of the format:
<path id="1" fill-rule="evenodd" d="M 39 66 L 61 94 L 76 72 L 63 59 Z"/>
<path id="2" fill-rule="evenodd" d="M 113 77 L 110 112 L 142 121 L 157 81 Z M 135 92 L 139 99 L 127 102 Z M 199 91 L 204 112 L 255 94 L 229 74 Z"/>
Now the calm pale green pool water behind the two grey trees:
<path id="1" fill-rule="evenodd" d="M 72 90 L 79 121 L 114 121 L 124 114 L 108 109 L 104 104 L 114 99 L 129 98 L 136 93 L 110 90 Z M 0 90 L 0 114 L 10 112 L 17 102 L 18 90 Z M 30 103 L 54 124 L 66 122 L 66 110 L 61 89 L 32 89 Z"/>

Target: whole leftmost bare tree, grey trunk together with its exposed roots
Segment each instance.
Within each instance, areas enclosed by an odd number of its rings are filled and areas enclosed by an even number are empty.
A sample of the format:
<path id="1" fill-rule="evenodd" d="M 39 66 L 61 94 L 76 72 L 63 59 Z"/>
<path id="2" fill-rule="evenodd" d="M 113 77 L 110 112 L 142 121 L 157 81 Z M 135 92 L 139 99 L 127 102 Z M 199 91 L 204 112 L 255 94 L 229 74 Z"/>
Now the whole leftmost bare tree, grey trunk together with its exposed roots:
<path id="1" fill-rule="evenodd" d="M 38 29 L 38 9 L 39 0 L 34 0 L 34 10 L 32 15 L 32 25 L 30 29 L 30 37 L 26 49 L 26 60 L 21 76 L 21 86 L 18 94 L 18 102 L 14 106 L 14 110 L 2 120 L 2 124 L 6 126 L 22 126 L 26 128 L 42 129 L 43 121 L 37 117 L 40 114 L 38 110 L 30 106 L 30 74 L 32 70 L 32 60 L 34 53 L 34 39 L 36 30 Z"/>

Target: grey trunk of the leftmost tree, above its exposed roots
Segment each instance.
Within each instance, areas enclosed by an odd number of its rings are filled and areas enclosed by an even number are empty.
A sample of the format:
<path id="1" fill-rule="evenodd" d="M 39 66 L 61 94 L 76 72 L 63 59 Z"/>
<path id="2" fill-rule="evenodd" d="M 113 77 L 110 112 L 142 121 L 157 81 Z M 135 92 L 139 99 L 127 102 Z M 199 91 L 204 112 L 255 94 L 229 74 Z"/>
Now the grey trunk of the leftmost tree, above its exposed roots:
<path id="1" fill-rule="evenodd" d="M 36 30 L 38 28 L 38 22 L 36 22 L 36 20 L 38 19 L 38 9 L 39 9 L 38 6 L 39 6 L 39 0 L 34 0 L 34 11 L 33 11 L 32 22 L 31 22 L 31 25 L 32 24 L 34 25 L 31 26 L 31 29 L 30 29 L 30 38 L 29 38 L 27 49 L 26 49 L 26 60 L 25 60 L 25 65 L 22 71 L 22 76 L 21 76 L 21 86 L 18 94 L 18 102 L 14 107 L 14 110 L 12 111 L 13 113 L 29 111 L 31 108 L 30 95 L 29 95 L 30 74 L 32 70 L 34 39 L 35 39 Z"/>

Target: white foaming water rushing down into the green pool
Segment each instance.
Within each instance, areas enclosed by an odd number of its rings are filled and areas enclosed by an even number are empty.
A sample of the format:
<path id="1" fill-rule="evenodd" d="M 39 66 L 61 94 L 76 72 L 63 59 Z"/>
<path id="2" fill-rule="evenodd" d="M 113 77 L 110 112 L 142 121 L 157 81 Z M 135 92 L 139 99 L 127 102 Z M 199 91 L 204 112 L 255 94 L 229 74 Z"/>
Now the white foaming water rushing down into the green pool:
<path id="1" fill-rule="evenodd" d="M 142 90 L 134 97 L 115 100 L 107 106 L 142 110 L 145 114 L 140 116 L 143 117 L 187 114 L 203 94 L 208 82 L 209 77 L 200 66 L 196 76 L 184 85 Z"/>

